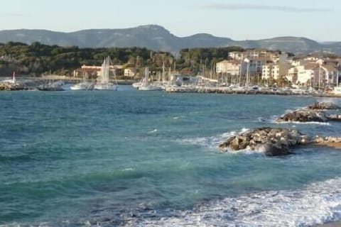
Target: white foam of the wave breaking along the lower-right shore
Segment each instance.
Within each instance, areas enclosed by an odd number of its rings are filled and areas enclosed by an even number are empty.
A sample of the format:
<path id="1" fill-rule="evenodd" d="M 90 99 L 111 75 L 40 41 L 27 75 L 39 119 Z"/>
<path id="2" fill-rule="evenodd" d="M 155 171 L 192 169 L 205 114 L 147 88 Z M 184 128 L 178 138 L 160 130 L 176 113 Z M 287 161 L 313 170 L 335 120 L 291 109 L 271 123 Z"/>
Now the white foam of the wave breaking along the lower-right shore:
<path id="1" fill-rule="evenodd" d="M 341 178 L 302 190 L 269 191 L 210 201 L 170 217 L 129 221 L 130 226 L 315 226 L 341 219 Z"/>

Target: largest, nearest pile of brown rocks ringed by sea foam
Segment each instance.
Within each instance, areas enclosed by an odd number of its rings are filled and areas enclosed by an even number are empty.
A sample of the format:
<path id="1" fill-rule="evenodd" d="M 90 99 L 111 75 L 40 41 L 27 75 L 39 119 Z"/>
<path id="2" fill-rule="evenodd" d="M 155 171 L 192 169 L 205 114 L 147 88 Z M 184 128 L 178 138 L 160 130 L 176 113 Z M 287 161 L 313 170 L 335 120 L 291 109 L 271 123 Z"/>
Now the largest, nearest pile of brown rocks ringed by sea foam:
<path id="1" fill-rule="evenodd" d="M 256 128 L 229 138 L 220 144 L 222 150 L 258 150 L 267 156 L 289 155 L 291 149 L 312 140 L 296 129 Z"/>

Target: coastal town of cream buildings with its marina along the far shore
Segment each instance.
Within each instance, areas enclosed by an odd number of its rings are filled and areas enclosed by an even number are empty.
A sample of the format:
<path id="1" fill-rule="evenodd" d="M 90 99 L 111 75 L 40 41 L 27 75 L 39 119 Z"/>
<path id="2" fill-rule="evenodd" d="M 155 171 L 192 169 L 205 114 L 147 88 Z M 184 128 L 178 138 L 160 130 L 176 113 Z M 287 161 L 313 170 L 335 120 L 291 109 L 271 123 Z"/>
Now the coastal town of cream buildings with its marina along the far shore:
<path id="1" fill-rule="evenodd" d="M 107 82 L 117 82 L 116 75 L 122 74 L 124 79 L 120 79 L 119 83 L 133 84 L 137 89 L 147 91 L 338 96 L 341 94 L 338 86 L 340 62 L 341 58 L 334 55 L 295 56 L 281 51 L 247 49 L 228 52 L 227 59 L 210 69 L 200 65 L 197 74 L 184 74 L 176 67 L 176 61 L 171 67 L 165 67 L 163 62 L 158 72 L 149 70 L 149 67 L 139 69 L 134 64 L 109 64 L 106 66 L 108 72 L 103 70 L 103 65 L 82 65 L 69 77 L 45 75 L 36 82 L 28 82 L 27 78 L 23 83 L 15 81 L 13 72 L 13 78 L 0 83 L 0 90 L 35 89 L 51 78 L 72 83 L 79 80 L 89 83 L 91 80 L 90 84 L 95 84 L 106 73 Z"/>

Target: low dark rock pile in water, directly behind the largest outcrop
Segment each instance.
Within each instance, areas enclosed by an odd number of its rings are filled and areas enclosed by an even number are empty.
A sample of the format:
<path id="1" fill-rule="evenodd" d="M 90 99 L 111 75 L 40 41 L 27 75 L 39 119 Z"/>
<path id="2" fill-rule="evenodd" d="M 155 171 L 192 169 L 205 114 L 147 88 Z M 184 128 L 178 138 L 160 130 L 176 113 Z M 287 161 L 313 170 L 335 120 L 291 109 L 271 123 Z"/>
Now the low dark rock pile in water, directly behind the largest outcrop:
<path id="1" fill-rule="evenodd" d="M 315 111 L 313 109 L 302 109 L 284 114 L 278 118 L 277 122 L 327 122 L 328 116 L 323 111 Z"/>

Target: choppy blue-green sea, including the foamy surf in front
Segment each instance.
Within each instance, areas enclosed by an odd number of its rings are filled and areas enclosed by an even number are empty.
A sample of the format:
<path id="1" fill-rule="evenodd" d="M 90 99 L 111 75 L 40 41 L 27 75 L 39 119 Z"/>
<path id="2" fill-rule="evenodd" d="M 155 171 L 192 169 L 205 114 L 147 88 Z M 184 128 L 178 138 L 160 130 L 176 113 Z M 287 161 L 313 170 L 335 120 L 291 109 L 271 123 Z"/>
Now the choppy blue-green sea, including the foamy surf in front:
<path id="1" fill-rule="evenodd" d="M 0 93 L 0 226 L 317 226 L 341 220 L 341 151 L 222 152 L 312 96 Z"/>

